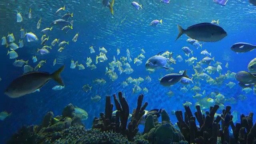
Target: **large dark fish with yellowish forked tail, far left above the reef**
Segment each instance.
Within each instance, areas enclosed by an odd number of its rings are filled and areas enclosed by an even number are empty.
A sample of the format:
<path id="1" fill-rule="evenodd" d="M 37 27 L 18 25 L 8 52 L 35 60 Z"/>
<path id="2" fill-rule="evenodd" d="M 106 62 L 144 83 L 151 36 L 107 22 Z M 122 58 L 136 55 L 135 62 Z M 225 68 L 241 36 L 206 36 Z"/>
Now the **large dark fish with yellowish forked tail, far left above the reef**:
<path id="1" fill-rule="evenodd" d="M 4 91 L 4 94 L 11 98 L 18 98 L 42 88 L 42 86 L 44 86 L 51 79 L 64 86 L 64 83 L 60 77 L 60 73 L 63 69 L 64 66 L 52 74 L 48 72 L 28 72 L 23 74 L 12 81 L 12 83 Z"/>

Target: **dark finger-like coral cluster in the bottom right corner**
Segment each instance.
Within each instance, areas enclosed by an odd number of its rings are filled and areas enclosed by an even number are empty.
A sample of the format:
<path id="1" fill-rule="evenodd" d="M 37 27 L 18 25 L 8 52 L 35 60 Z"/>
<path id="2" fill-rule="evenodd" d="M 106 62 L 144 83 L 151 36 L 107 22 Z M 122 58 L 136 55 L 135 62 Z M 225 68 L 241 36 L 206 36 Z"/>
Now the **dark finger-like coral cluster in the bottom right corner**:
<path id="1" fill-rule="evenodd" d="M 210 107 L 210 112 L 206 112 L 206 115 L 202 114 L 200 106 L 196 106 L 195 116 L 192 115 L 189 106 L 184 107 L 184 119 L 182 111 L 176 111 L 175 115 L 178 119 L 178 127 L 189 143 L 256 144 L 256 124 L 253 125 L 253 113 L 249 116 L 242 114 L 241 122 L 234 125 L 230 106 L 226 106 L 221 116 L 216 116 L 216 118 L 214 115 L 219 108 L 218 105 Z M 199 126 L 196 126 L 196 120 Z M 232 136 L 230 136 L 229 126 L 233 131 Z"/>

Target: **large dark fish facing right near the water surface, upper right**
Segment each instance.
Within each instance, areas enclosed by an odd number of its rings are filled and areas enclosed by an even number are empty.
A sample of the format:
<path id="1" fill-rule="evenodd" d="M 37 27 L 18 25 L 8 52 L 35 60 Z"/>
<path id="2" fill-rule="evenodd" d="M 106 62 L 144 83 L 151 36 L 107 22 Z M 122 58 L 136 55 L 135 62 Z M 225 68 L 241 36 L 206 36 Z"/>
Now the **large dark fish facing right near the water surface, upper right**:
<path id="1" fill-rule="evenodd" d="M 218 42 L 227 36 L 225 30 L 217 25 L 211 23 L 200 23 L 188 27 L 186 30 L 178 25 L 179 34 L 176 38 L 180 38 L 182 34 L 186 34 L 188 37 L 202 42 Z"/>

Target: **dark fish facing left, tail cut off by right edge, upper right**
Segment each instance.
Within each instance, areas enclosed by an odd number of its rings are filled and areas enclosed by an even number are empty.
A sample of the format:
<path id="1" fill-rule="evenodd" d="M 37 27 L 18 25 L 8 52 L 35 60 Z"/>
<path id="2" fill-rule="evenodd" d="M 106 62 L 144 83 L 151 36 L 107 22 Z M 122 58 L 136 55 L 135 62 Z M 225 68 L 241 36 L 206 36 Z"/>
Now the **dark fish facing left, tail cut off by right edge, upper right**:
<path id="1" fill-rule="evenodd" d="M 244 53 L 244 52 L 250 52 L 255 48 L 256 48 L 256 45 L 252 45 L 244 42 L 238 42 L 236 44 L 233 44 L 230 49 L 234 52 Z"/>

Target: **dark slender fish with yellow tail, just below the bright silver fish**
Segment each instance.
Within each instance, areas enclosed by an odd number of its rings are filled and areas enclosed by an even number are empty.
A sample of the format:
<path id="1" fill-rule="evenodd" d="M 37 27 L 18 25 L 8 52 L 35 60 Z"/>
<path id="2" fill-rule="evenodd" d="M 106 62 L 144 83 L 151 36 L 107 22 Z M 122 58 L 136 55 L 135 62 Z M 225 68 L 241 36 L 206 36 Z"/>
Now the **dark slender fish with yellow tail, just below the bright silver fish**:
<path id="1" fill-rule="evenodd" d="M 160 84 L 162 86 L 171 86 L 179 82 L 183 77 L 189 78 L 186 70 L 183 74 L 166 74 L 160 79 Z"/>

